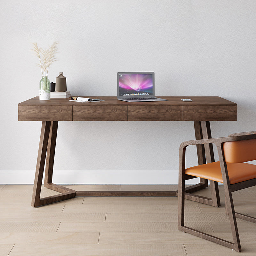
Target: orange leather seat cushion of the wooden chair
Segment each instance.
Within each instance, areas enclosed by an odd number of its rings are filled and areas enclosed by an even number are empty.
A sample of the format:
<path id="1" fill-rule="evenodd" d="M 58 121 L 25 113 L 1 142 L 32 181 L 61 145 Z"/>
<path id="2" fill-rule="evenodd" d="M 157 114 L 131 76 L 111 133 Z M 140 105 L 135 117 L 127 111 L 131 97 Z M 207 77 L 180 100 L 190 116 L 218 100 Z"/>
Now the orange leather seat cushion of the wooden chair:
<path id="1" fill-rule="evenodd" d="M 227 163 L 230 184 L 256 178 L 256 165 L 248 163 Z M 220 162 L 201 164 L 185 170 L 185 174 L 223 183 Z"/>

